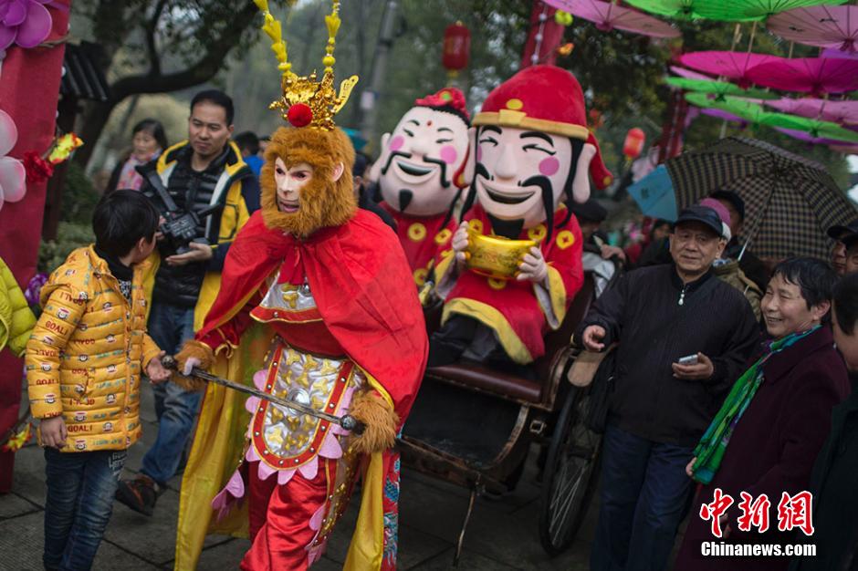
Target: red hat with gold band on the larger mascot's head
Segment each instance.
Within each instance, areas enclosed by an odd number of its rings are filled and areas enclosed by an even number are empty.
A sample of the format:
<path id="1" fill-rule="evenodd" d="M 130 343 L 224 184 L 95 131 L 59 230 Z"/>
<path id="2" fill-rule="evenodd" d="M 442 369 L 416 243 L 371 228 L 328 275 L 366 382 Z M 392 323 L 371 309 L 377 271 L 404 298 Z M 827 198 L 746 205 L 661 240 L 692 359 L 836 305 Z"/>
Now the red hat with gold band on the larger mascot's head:
<path id="1" fill-rule="evenodd" d="M 538 130 L 584 140 L 596 148 L 590 174 L 596 188 L 611 184 L 611 171 L 602 162 L 599 143 L 587 129 L 587 109 L 581 84 L 556 66 L 531 66 L 519 71 L 488 94 L 474 126 L 498 125 Z"/>

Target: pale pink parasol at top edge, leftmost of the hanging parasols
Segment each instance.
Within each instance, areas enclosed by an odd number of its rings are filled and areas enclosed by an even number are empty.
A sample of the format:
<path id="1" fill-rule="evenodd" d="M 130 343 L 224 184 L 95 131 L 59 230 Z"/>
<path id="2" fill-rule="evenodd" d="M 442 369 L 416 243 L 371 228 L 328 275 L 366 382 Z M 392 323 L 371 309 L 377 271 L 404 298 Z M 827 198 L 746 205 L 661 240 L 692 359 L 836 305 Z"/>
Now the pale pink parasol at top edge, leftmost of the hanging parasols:
<path id="1" fill-rule="evenodd" d="M 666 22 L 612 2 L 602 2 L 602 0 L 545 0 L 545 3 L 558 10 L 590 20 L 602 32 L 618 29 L 652 37 L 682 36 L 679 30 Z"/>

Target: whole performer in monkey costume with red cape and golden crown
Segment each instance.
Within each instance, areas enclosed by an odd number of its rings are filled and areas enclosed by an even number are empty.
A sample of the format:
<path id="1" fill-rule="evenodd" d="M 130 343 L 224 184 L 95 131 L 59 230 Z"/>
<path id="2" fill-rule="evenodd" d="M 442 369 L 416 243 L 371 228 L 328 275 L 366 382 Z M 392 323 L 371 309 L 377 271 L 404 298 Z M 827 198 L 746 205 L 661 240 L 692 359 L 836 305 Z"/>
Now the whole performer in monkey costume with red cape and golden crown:
<path id="1" fill-rule="evenodd" d="M 210 384 L 184 472 L 176 569 L 196 567 L 207 533 L 249 536 L 242 569 L 306 569 L 361 479 L 347 569 L 395 567 L 394 439 L 428 353 L 423 313 L 396 236 L 356 208 L 348 137 L 333 123 L 357 78 L 299 78 L 266 12 L 283 71 L 262 209 L 235 238 L 204 327 L 176 360 L 366 425 L 360 435 Z M 329 34 L 339 26 L 334 2 Z M 331 29 L 331 24 L 336 24 Z M 266 29 L 266 28 L 263 28 Z M 279 44 L 282 47 L 282 44 Z M 202 381 L 177 375 L 185 386 Z M 236 469 L 237 466 L 237 469 Z"/>

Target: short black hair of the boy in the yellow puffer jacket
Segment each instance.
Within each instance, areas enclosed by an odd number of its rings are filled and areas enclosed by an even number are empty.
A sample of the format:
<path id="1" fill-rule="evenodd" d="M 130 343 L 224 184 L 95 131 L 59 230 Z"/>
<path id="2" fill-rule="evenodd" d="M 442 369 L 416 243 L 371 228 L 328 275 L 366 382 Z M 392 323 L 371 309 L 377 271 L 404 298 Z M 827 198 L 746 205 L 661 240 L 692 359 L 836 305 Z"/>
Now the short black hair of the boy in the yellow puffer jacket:
<path id="1" fill-rule="evenodd" d="M 159 217 L 141 192 L 122 189 L 105 194 L 92 215 L 95 244 L 105 254 L 127 255 L 141 238 L 152 239 Z"/>

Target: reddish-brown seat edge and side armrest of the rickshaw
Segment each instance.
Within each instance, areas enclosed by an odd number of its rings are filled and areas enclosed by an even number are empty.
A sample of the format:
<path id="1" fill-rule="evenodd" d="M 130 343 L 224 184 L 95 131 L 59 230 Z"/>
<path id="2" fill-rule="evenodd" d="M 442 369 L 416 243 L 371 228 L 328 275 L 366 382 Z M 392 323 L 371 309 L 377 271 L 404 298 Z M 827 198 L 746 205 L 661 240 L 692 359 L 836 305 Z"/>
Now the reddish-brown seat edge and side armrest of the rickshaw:
<path id="1" fill-rule="evenodd" d="M 592 298 L 593 279 L 591 273 L 587 272 L 584 274 L 581 290 L 572 300 L 563 323 L 558 329 L 546 335 L 545 355 L 536 359 L 531 365 L 536 370 L 536 379 L 507 374 L 502 370 L 489 369 L 477 363 L 454 363 L 426 369 L 426 378 L 550 408 L 562 372 L 556 369 L 564 365 L 564 355 L 570 351 L 572 334 L 590 308 Z"/>

